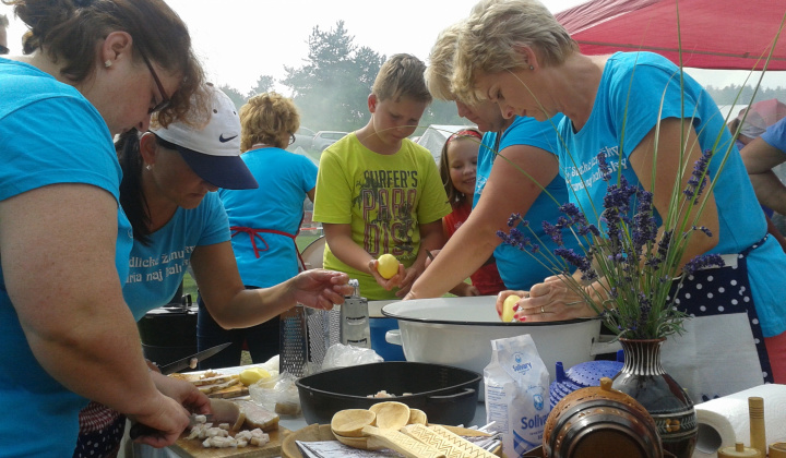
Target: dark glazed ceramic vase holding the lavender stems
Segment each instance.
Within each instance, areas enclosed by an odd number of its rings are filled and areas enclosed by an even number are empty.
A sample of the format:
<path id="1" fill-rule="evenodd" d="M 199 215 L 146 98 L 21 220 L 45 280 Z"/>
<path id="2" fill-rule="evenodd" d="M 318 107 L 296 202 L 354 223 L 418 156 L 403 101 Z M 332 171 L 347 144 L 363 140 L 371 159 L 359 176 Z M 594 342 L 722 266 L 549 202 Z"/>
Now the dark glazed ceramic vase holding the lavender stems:
<path id="1" fill-rule="evenodd" d="M 693 402 L 660 365 L 662 339 L 619 339 L 624 365 L 611 387 L 639 401 L 655 420 L 663 448 L 677 458 L 690 458 L 698 423 Z"/>

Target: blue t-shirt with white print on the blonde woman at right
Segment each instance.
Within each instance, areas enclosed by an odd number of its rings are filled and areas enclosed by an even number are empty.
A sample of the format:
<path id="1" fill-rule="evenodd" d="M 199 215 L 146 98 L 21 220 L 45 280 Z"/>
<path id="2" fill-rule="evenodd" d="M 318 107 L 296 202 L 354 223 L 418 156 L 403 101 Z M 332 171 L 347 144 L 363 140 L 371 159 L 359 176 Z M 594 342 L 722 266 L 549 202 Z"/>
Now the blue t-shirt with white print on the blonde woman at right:
<path id="1" fill-rule="evenodd" d="M 571 120 L 564 118 L 559 125 L 564 140 L 564 147 L 560 144 L 559 148 L 560 173 L 568 182 L 571 202 L 584 210 L 590 222 L 597 225 L 607 189 L 607 182 L 600 179 L 597 155 L 604 153 L 615 173 L 621 167 L 628 182 L 638 185 L 640 181 L 628 164 L 633 149 L 659 119 L 692 119 L 702 150 L 718 152 L 708 170 L 716 181 L 714 195 L 720 229 L 714 234 L 718 243 L 710 253 L 739 253 L 766 233 L 764 214 L 717 106 L 687 74 L 683 85 L 681 91 L 679 69 L 659 55 L 617 52 L 611 56 L 586 124 L 574 132 Z M 728 158 L 717 176 L 727 150 Z M 750 253 L 748 269 L 764 336 L 783 333 L 786 299 L 781 285 L 786 278 L 786 255 L 773 238 Z"/>

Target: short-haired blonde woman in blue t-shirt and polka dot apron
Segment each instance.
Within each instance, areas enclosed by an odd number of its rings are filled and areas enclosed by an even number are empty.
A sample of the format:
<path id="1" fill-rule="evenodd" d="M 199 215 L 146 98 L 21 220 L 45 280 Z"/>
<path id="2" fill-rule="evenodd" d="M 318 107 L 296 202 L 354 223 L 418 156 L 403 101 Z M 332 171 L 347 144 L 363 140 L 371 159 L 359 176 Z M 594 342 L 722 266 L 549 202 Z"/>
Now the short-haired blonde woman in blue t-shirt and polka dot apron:
<path id="1" fill-rule="evenodd" d="M 781 288 L 786 254 L 766 237 L 764 214 L 740 155 L 706 91 L 658 55 L 582 55 L 564 27 L 535 0 L 479 7 L 464 23 L 454 65 L 456 93 L 496 101 L 505 117 L 544 121 L 564 114 L 557 128 L 560 173 L 571 202 L 598 227 L 599 210 L 592 208 L 603 208 L 608 185 L 596 179 L 603 174 L 599 154 L 605 154 L 615 177 L 619 173 L 630 185 L 654 190 L 659 217 L 668 213 L 674 183 L 679 180 L 686 189 L 693 164 L 705 150 L 728 152 L 710 161 L 714 188 L 707 188 L 701 195 L 704 204 L 687 216 L 713 237 L 691 237 L 680 262 L 704 253 L 727 255 L 728 261 L 726 267 L 699 270 L 681 284 L 676 303 L 700 318 L 686 322 L 686 338 L 668 339 L 664 365 L 694 400 L 763 382 L 786 382 L 786 364 L 774 358 L 786 351 L 786 298 Z M 684 167 L 688 171 L 682 173 Z M 519 305 L 517 316 L 527 322 L 595 314 L 559 279 L 533 286 Z M 712 325 L 718 322 L 739 327 L 723 333 Z M 717 351 L 722 345 L 734 349 L 731 361 Z M 689 357 L 691 351 L 695 354 Z"/>

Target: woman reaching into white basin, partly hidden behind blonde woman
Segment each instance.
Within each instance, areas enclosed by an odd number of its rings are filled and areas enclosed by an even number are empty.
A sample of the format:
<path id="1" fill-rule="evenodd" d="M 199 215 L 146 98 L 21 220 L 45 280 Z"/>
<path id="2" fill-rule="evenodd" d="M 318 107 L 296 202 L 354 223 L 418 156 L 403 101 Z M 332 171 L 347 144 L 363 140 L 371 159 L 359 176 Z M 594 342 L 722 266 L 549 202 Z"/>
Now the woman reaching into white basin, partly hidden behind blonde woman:
<path id="1" fill-rule="evenodd" d="M 549 160 L 558 143 L 553 125 L 562 114 L 544 122 L 523 117 L 505 119 L 491 101 L 466 104 L 456 98 L 450 77 L 460 32 L 461 24 L 454 24 L 440 33 L 429 55 L 426 82 L 434 98 L 455 101 L 458 116 L 485 132 L 479 142 L 473 208 L 405 299 L 442 296 L 451 285 L 462 281 L 490 257 L 507 288 L 529 289 L 543 281 L 550 275 L 550 256 L 533 260 L 529 254 L 503 244 L 497 231 L 509 228 L 513 213 L 533 221 L 557 219 L 559 202 L 568 196 L 558 164 Z M 524 173 L 534 180 L 532 185 L 521 185 L 517 179 Z M 526 230 L 523 224 L 517 227 Z M 539 225 L 531 229 L 544 244 L 540 253 L 557 248 Z M 567 243 L 577 246 L 577 241 Z"/>

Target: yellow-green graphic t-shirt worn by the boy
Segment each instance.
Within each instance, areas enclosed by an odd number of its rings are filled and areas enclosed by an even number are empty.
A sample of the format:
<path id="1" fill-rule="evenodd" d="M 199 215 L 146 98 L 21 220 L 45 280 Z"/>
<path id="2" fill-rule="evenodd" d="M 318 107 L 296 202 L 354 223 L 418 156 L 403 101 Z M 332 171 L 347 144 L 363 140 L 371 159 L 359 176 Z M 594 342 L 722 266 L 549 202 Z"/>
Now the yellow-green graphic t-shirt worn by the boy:
<path id="1" fill-rule="evenodd" d="M 431 154 L 408 138 L 393 155 L 365 147 L 354 133 L 322 153 L 317 176 L 313 220 L 350 225 L 352 237 L 370 255 L 393 254 L 405 267 L 420 249 L 419 225 L 451 213 Z M 369 300 L 395 299 L 370 274 L 358 272 L 325 246 L 324 268 L 345 272 Z"/>

